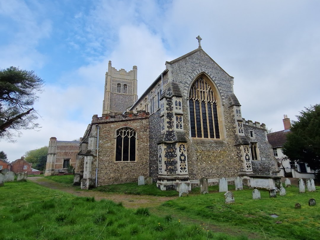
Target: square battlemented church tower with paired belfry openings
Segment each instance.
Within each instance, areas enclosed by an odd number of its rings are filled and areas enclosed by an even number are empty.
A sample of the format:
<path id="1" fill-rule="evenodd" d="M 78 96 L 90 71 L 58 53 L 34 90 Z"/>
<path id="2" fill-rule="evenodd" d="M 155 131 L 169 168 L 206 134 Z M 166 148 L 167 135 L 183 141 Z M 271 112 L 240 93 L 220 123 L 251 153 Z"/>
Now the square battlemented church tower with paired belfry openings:
<path id="1" fill-rule="evenodd" d="M 109 61 L 102 114 L 122 113 L 132 106 L 138 99 L 137 85 L 137 66 L 129 72 L 122 68 L 118 71 Z"/>

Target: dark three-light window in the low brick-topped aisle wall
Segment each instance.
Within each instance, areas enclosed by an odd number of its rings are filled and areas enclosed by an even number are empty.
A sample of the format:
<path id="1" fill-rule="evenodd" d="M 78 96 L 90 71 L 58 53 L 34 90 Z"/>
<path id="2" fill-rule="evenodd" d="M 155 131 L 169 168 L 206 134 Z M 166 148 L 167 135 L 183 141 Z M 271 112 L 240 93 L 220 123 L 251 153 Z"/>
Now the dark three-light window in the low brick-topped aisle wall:
<path id="1" fill-rule="evenodd" d="M 136 132 L 124 127 L 117 130 L 116 136 L 116 161 L 136 160 Z"/>

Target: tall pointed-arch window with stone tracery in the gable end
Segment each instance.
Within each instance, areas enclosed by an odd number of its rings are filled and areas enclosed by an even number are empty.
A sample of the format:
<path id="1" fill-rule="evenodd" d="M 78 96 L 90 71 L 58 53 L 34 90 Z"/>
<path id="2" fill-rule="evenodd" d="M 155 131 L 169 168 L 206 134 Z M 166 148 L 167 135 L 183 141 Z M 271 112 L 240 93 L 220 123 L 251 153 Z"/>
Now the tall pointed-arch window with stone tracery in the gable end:
<path id="1" fill-rule="evenodd" d="M 193 138 L 220 138 L 217 102 L 212 85 L 200 76 L 189 93 L 190 128 Z"/>

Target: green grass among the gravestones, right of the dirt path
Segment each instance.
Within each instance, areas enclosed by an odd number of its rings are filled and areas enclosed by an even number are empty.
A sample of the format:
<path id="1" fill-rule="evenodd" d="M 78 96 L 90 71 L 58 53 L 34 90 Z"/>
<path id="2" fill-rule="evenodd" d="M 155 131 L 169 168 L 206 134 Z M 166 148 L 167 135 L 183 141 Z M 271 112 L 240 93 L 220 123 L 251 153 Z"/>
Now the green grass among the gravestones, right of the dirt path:
<path id="1" fill-rule="evenodd" d="M 246 234 L 257 234 L 264 239 L 318 240 L 319 205 L 308 205 L 310 198 L 320 202 L 320 188 L 316 188 L 317 192 L 302 194 L 299 194 L 297 187 L 286 188 L 286 196 L 280 197 L 277 194 L 276 198 L 270 198 L 268 191 L 261 190 L 261 200 L 252 200 L 252 189 L 235 191 L 229 186 L 235 196 L 234 204 L 225 204 L 224 193 L 216 191 L 164 202 L 157 208 L 157 212 L 170 212 L 175 217 L 191 219 L 193 222 L 202 221 L 203 224 L 210 222 L 221 229 L 240 229 Z M 301 204 L 301 209 L 295 209 L 296 203 Z M 271 214 L 278 217 L 272 218 Z"/>

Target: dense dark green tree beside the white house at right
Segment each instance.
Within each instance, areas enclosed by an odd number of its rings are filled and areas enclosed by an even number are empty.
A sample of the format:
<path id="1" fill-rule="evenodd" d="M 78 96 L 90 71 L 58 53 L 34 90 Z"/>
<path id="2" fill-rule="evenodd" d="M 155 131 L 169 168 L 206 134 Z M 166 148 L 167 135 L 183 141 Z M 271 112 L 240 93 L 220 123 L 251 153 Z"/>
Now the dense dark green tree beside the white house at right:
<path id="1" fill-rule="evenodd" d="M 305 162 L 313 170 L 320 170 L 320 104 L 305 108 L 297 121 L 292 121 L 291 131 L 282 148 L 292 161 Z"/>

